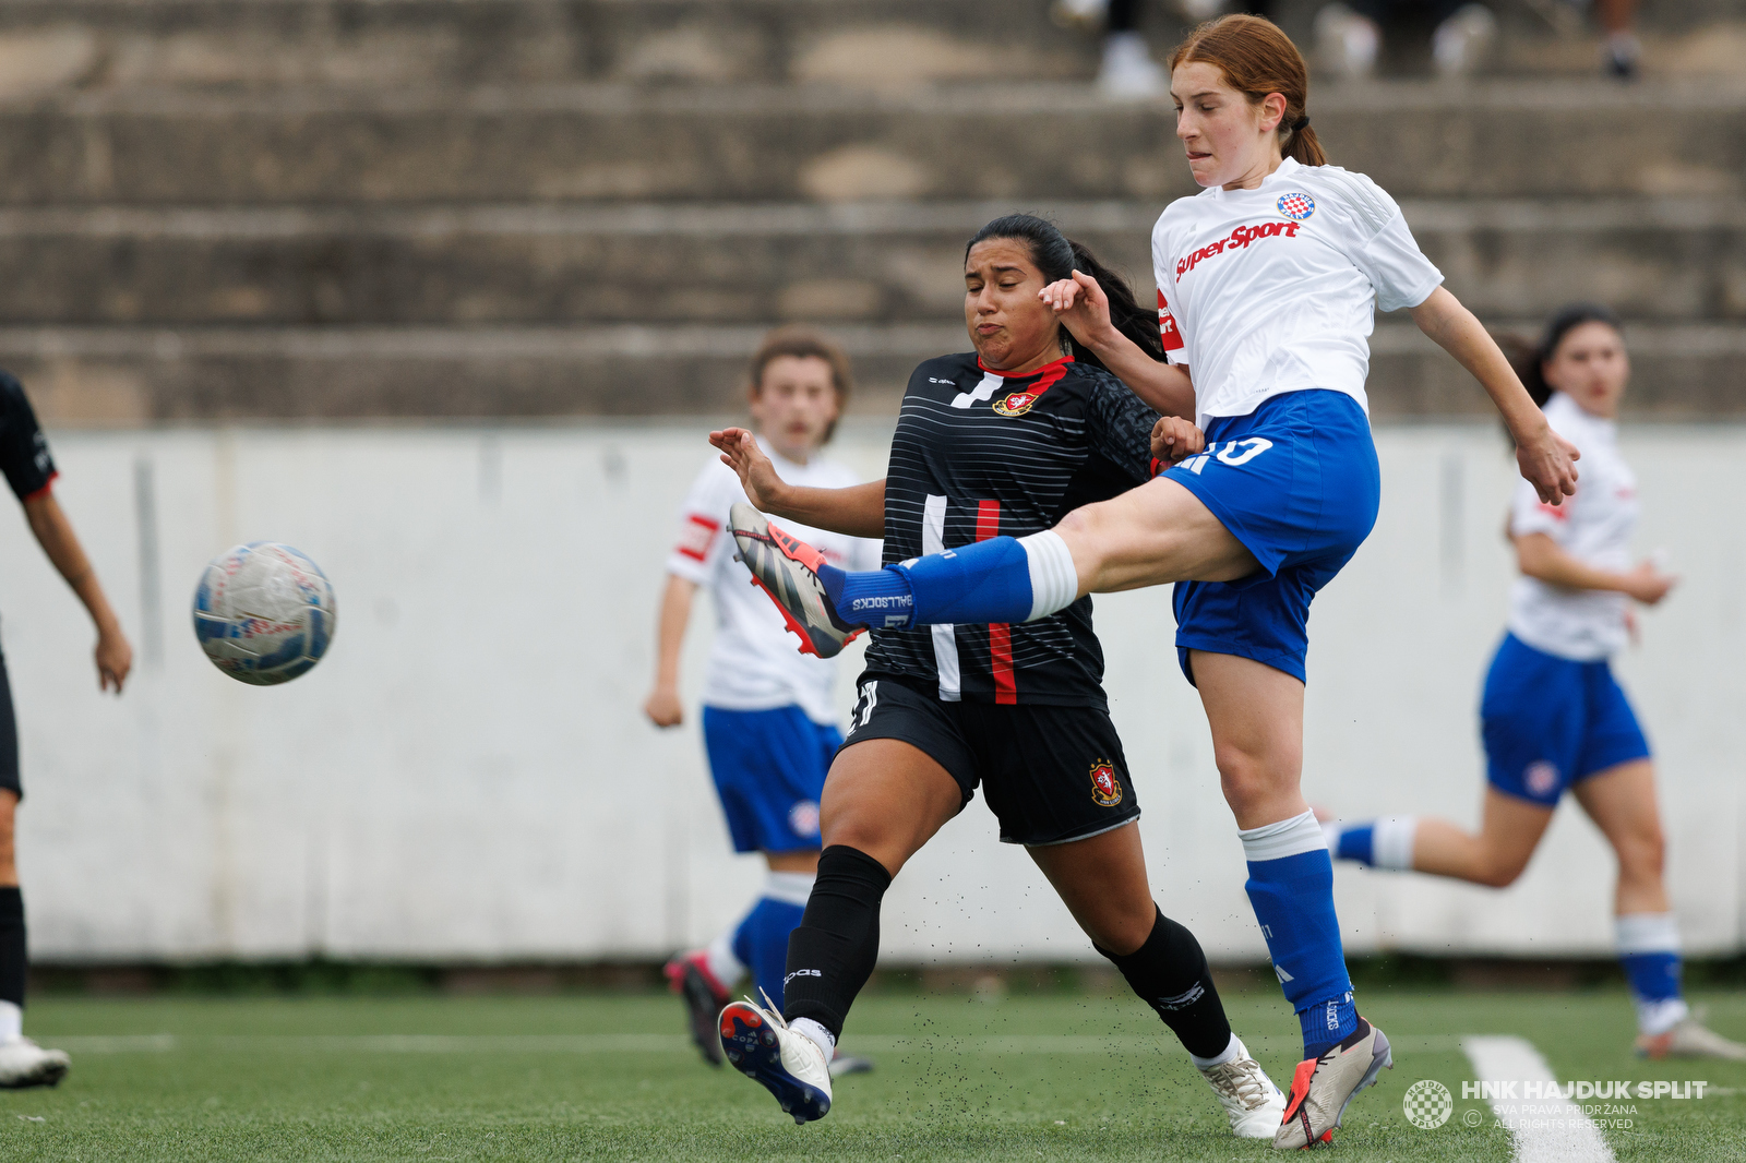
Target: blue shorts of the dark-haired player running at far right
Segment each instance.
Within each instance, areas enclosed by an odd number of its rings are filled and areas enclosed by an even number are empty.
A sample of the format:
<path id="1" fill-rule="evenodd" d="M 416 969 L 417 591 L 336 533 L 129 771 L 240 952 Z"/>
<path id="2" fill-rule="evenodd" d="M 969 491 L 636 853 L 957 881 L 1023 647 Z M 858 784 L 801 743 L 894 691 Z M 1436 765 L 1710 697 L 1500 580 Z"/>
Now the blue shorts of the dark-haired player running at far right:
<path id="1" fill-rule="evenodd" d="M 1559 658 L 1514 634 L 1491 658 L 1479 721 L 1491 786 L 1545 807 L 1571 784 L 1650 754 L 1606 658 Z"/>

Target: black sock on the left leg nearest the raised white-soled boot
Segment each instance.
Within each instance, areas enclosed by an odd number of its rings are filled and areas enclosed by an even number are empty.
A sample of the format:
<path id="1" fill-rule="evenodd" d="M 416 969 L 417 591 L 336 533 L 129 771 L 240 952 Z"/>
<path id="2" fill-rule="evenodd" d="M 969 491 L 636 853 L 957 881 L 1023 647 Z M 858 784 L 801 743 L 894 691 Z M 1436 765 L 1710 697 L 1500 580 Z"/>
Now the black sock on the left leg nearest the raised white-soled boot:
<path id="1" fill-rule="evenodd" d="M 866 852 L 833 843 L 819 854 L 807 913 L 787 938 L 786 1020 L 812 1018 L 842 1037 L 878 959 L 878 903 L 889 887 L 890 873 Z"/>

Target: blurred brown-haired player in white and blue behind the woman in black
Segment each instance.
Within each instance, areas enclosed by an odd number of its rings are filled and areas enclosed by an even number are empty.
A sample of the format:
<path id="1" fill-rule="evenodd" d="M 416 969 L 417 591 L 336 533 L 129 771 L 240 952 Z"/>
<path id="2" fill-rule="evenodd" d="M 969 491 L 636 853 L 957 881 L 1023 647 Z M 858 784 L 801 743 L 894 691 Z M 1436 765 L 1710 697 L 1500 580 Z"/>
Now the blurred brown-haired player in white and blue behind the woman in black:
<path id="1" fill-rule="evenodd" d="M 782 477 L 821 489 L 859 484 L 849 468 L 819 451 L 829 442 L 850 391 L 849 358 L 828 339 L 801 328 L 770 332 L 751 365 L 749 407 L 758 444 Z M 787 934 L 800 924 L 819 868 L 819 796 L 831 756 L 843 742 L 831 688 L 836 664 L 801 655 L 780 611 L 753 587 L 725 527 L 746 491 L 719 458 L 691 484 L 679 541 L 667 559 L 667 590 L 656 632 L 655 690 L 644 712 L 656 726 L 677 726 L 679 653 L 698 587 L 716 604 L 716 641 L 704 678 L 704 746 L 721 796 L 735 852 L 763 852 L 770 866 L 751 910 L 709 946 L 667 962 L 667 980 L 684 997 L 691 1037 L 704 1058 L 721 1065 L 716 1013 L 747 973 L 754 992 L 782 1004 Z M 807 531 L 833 561 L 878 568 L 878 541 Z M 836 1072 L 864 1069 L 838 1058 Z"/>

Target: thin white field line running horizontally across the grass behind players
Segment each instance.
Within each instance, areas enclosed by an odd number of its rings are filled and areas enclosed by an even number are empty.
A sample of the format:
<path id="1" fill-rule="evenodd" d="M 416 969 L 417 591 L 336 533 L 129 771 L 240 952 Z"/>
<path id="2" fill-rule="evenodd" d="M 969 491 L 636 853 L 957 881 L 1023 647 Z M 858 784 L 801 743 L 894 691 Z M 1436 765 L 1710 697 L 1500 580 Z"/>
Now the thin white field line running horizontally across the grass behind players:
<path id="1" fill-rule="evenodd" d="M 1296 1056 L 1297 1037 L 1250 1037 L 1254 1049 Z M 1449 1051 L 1461 1046 L 1451 1036 L 1392 1036 L 1397 1049 Z M 176 1051 L 272 1051 L 272 1053 L 382 1053 L 382 1055 L 478 1055 L 478 1053 L 695 1053 L 683 1034 L 105 1034 L 47 1037 L 45 1044 L 75 1055 L 176 1053 Z M 1159 1037 L 1102 1037 L 1083 1034 L 992 1034 L 969 1037 L 917 1037 L 913 1034 L 854 1034 L 843 1039 L 849 1051 L 931 1055 L 1179 1055 L 1168 1034 Z"/>

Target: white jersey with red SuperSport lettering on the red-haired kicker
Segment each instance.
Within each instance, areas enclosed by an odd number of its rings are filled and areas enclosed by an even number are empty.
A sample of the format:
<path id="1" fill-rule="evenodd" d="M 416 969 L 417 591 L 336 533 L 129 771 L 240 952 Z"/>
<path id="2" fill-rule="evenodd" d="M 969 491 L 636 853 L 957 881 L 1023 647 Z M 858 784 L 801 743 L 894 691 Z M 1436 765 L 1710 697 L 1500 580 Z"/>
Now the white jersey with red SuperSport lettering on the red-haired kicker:
<path id="1" fill-rule="evenodd" d="M 1165 354 L 1187 365 L 1201 428 L 1310 388 L 1369 412 L 1374 309 L 1416 307 L 1442 283 L 1381 187 L 1290 157 L 1259 189 L 1172 203 L 1152 271 Z"/>

